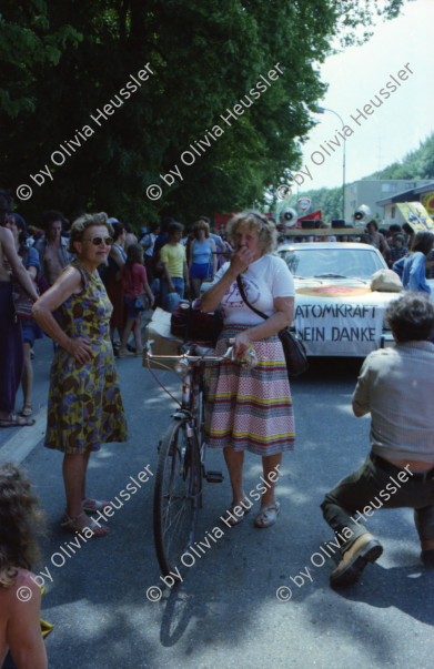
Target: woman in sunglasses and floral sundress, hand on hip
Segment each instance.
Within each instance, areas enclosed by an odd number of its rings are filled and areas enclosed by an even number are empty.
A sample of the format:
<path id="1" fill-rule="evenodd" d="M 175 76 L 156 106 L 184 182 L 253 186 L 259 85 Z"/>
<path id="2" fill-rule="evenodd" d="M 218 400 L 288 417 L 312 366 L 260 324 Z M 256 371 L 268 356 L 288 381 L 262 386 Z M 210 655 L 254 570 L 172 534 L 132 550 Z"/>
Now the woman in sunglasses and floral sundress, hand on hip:
<path id="1" fill-rule="evenodd" d="M 103 443 L 127 438 L 110 343 L 112 305 L 97 272 L 107 260 L 111 235 L 107 214 L 78 219 L 69 242 L 75 260 L 33 306 L 36 321 L 59 344 L 51 366 L 44 445 L 64 454 L 67 509 L 61 525 L 87 538 L 105 536 L 108 527 L 85 514 L 110 506 L 85 494 L 90 454 Z"/>

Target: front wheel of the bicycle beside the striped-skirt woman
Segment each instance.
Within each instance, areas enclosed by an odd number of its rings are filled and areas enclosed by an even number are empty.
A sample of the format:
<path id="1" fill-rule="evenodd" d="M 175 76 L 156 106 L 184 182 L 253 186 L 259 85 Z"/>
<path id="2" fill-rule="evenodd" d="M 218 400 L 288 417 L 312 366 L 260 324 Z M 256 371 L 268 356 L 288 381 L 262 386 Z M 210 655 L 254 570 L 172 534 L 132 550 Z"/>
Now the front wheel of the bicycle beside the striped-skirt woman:
<path id="1" fill-rule="evenodd" d="M 183 569 L 181 556 L 194 541 L 201 489 L 194 432 L 186 418 L 174 418 L 160 445 L 153 498 L 155 550 L 164 576 Z"/>

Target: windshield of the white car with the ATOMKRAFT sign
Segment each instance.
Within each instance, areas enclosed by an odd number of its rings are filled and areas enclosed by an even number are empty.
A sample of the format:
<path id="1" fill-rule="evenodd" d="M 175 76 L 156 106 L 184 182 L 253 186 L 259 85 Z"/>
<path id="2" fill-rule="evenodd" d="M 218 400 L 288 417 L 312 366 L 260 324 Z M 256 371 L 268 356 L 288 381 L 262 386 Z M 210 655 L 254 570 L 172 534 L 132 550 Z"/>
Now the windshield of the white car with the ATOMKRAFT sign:
<path id="1" fill-rule="evenodd" d="M 287 249 L 279 254 L 294 276 L 302 278 L 365 278 L 384 264 L 375 251 L 366 249 Z"/>

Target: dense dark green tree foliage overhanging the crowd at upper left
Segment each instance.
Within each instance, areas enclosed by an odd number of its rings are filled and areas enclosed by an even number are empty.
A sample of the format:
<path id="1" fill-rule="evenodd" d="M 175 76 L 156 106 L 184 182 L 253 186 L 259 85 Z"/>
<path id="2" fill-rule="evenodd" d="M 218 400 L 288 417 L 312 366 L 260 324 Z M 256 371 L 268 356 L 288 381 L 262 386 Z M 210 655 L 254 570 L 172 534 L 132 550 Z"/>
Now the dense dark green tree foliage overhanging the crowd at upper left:
<path id="1" fill-rule="evenodd" d="M 383 16 L 402 1 L 383 2 Z M 31 185 L 33 195 L 19 210 L 32 222 L 51 207 L 105 210 L 143 225 L 162 213 L 191 221 L 261 203 L 265 184 L 277 185 L 300 163 L 299 140 L 325 90 L 317 63 L 331 39 L 337 32 L 351 39 L 376 16 L 376 0 L 362 4 L 31 0 L 21 9 L 4 0 L 0 183 Z M 11 36 L 17 50 L 8 49 Z M 93 121 L 147 63 L 149 80 L 121 97 L 107 120 Z M 279 80 L 225 124 L 220 115 L 275 63 Z M 214 141 L 206 131 L 215 125 L 224 132 Z M 206 138 L 210 146 L 182 164 L 190 144 Z M 169 186 L 160 174 L 175 165 L 182 180 Z M 161 199 L 147 196 L 150 184 L 162 187 Z"/>

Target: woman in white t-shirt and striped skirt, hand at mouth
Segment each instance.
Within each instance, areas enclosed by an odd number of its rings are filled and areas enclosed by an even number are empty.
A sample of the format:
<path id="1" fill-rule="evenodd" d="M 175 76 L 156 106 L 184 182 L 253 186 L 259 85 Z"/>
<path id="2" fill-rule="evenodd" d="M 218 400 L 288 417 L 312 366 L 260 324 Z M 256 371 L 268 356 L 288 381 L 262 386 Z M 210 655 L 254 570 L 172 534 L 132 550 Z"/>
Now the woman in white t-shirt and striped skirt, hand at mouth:
<path id="1" fill-rule="evenodd" d="M 275 479 L 284 450 L 294 444 L 294 418 L 285 358 L 277 332 L 291 325 L 294 312 L 294 282 L 285 262 L 271 255 L 276 243 L 276 229 L 266 216 L 246 211 L 234 216 L 228 226 L 234 253 L 216 273 L 202 297 L 202 311 L 224 308 L 224 328 L 216 353 L 234 337 L 234 356 L 239 361 L 252 346 L 258 365 L 245 368 L 224 361 L 211 371 L 206 403 L 205 429 L 208 444 L 223 448 L 233 499 L 231 510 L 241 506 L 246 513 L 252 494 L 243 488 L 244 452 L 262 457 L 266 486 L 262 490 L 256 527 L 270 527 L 276 520 L 280 505 L 275 499 Z M 236 284 L 240 274 L 250 304 L 269 317 L 261 318 L 243 301 Z M 274 473 L 274 474 L 273 474 Z M 265 490 L 265 491 L 263 491 Z M 231 525 L 243 515 L 232 514 Z"/>

